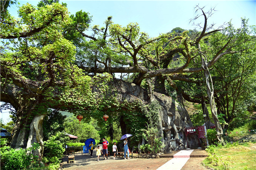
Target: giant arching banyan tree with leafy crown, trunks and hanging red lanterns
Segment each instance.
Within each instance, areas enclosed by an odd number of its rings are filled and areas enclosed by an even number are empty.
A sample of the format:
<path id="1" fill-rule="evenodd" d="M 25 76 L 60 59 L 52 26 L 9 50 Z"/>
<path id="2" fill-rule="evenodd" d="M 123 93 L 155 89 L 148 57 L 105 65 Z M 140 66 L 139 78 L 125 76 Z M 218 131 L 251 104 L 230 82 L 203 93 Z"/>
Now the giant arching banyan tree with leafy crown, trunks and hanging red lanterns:
<path id="1" fill-rule="evenodd" d="M 210 12 L 197 8 L 204 17 L 200 32 L 170 32 L 156 38 L 140 32 L 136 23 L 122 27 L 112 23 L 111 17 L 104 27 L 93 26 L 92 34 L 85 34 L 90 28 L 88 13 L 69 16 L 59 3 L 24 5 L 18 19 L 1 11 L 1 101 L 11 105 L 17 116 L 11 147 L 27 148 L 37 142 L 41 145 L 37 152 L 42 153 L 42 122 L 49 108 L 84 117 L 102 117 L 107 112 L 119 118 L 122 133 L 135 133 L 140 123 L 152 123 L 153 114 L 146 114 L 150 106 L 155 109 L 155 126 L 165 151 L 186 148 L 184 128 L 193 125 L 183 100 L 193 101 L 195 96 L 175 81 L 202 84 L 197 78 L 204 72 L 209 97 L 201 93 L 197 102 L 214 104 L 210 68 L 221 57 L 244 50 L 234 48 L 245 43 L 237 44 L 237 33 L 229 34 L 231 26 L 224 30 L 208 27 Z M 218 39 L 214 35 L 219 34 L 221 43 L 210 53 L 216 44 L 209 39 Z M 120 79 L 113 78 L 117 76 Z M 166 87 L 177 95 L 170 97 Z M 214 109 L 212 105 L 221 140 Z M 197 138 L 190 137 L 189 142 L 190 147 L 196 146 Z"/>

